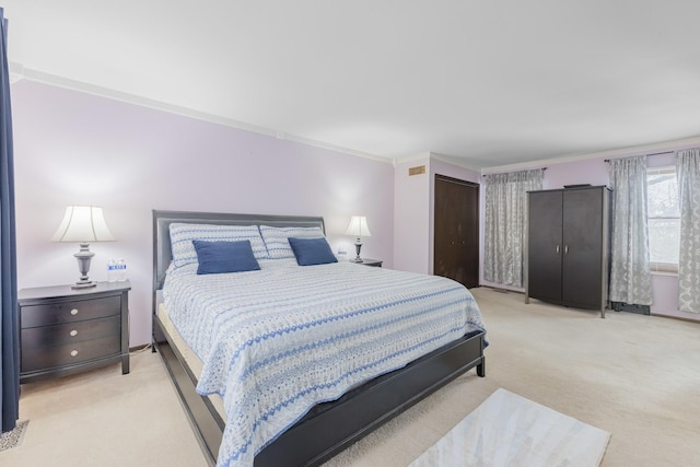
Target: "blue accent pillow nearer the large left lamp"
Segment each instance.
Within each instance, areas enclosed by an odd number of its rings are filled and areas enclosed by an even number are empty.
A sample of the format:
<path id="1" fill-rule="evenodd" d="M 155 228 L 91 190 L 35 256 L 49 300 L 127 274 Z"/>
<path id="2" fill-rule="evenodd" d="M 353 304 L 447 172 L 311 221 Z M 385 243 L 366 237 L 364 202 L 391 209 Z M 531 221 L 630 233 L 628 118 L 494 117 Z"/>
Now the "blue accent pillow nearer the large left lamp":
<path id="1" fill-rule="evenodd" d="M 199 267 L 198 275 L 256 271 L 260 269 L 249 240 L 237 242 L 205 242 L 194 240 Z"/>

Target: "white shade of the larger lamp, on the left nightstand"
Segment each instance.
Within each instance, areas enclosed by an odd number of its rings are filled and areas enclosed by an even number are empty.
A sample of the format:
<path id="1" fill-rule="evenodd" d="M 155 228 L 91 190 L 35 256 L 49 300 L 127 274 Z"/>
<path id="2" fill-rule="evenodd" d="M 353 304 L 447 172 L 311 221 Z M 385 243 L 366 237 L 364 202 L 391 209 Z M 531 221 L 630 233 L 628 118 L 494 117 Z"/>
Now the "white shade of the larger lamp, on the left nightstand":
<path id="1" fill-rule="evenodd" d="M 110 242 L 114 236 L 97 206 L 69 206 L 51 242 Z"/>

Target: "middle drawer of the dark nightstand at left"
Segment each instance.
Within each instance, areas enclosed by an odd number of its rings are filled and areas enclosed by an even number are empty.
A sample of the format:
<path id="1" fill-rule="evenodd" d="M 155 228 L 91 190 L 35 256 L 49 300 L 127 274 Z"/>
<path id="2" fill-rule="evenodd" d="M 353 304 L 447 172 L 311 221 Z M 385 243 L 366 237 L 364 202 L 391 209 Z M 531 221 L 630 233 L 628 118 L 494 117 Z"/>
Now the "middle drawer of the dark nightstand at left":
<path id="1" fill-rule="evenodd" d="M 22 329 L 22 349 L 82 342 L 107 336 L 120 336 L 120 316 L 88 319 L 63 325 Z"/>

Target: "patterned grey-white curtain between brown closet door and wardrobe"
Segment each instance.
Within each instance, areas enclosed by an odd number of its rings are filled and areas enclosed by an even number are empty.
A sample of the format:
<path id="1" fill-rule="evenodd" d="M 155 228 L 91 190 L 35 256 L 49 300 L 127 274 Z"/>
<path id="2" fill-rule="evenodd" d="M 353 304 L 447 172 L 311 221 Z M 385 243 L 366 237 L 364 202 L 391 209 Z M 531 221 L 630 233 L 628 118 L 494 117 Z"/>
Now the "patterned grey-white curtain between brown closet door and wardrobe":
<path id="1" fill-rule="evenodd" d="M 527 191 L 542 189 L 542 168 L 486 176 L 483 279 L 523 287 Z"/>

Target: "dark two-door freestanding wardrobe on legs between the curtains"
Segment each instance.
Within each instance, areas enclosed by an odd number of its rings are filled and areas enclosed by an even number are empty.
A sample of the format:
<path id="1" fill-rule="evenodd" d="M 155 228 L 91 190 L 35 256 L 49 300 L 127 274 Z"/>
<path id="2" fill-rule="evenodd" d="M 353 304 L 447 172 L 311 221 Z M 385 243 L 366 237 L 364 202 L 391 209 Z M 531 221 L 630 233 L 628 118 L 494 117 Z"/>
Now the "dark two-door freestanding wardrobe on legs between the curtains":
<path id="1" fill-rule="evenodd" d="M 609 277 L 609 189 L 583 186 L 529 191 L 526 303 L 538 299 L 599 310 Z"/>

